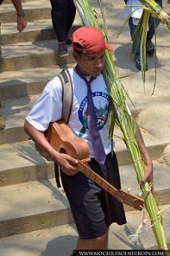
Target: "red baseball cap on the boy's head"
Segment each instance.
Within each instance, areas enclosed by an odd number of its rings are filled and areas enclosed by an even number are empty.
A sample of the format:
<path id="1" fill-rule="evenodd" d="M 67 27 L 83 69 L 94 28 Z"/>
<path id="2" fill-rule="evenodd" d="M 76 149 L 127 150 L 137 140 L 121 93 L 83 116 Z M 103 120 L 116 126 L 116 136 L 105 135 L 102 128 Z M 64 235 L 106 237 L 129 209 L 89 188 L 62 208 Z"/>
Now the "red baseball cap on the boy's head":
<path id="1" fill-rule="evenodd" d="M 77 43 L 81 47 L 77 46 Z M 103 50 L 113 51 L 113 46 L 105 42 L 104 35 L 101 30 L 94 26 L 82 26 L 73 32 L 73 50 L 80 51 L 85 54 L 98 53 Z"/>

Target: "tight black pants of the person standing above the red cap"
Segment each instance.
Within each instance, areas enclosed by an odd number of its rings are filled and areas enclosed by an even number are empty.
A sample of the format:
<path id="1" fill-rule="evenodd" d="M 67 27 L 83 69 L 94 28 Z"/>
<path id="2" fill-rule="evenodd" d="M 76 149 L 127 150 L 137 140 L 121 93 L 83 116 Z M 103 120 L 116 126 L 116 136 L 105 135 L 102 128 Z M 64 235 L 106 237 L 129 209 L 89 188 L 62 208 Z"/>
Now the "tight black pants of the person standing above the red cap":
<path id="1" fill-rule="evenodd" d="M 50 0 L 50 2 L 53 29 L 57 34 L 58 42 L 65 41 L 75 18 L 76 7 L 73 0 Z"/>

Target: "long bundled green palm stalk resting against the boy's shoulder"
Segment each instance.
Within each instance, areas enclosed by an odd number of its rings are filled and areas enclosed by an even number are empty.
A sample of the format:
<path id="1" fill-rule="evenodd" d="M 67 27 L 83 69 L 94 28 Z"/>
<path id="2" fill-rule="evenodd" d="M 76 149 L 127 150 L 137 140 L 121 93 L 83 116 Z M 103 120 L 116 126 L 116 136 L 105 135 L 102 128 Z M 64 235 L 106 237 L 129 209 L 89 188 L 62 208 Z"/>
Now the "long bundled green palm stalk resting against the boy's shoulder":
<path id="1" fill-rule="evenodd" d="M 74 0 L 77 11 L 81 16 L 81 20 L 85 26 L 102 27 L 105 34 L 105 40 L 108 42 L 106 27 L 100 26 L 97 22 L 96 15 L 89 5 L 89 0 Z M 121 79 L 116 77 L 115 66 L 113 63 L 112 54 L 105 50 L 105 68 L 103 70 L 105 82 L 109 91 L 112 106 L 111 113 L 113 114 L 113 121 L 110 126 L 110 134 L 113 134 L 114 123 L 117 122 L 124 135 L 125 145 L 132 158 L 132 164 L 136 170 L 136 177 L 140 183 L 140 179 L 144 177 L 144 161 L 140 155 L 140 149 L 136 139 L 136 124 L 132 116 L 128 114 L 126 106 L 127 93 L 121 83 Z M 152 223 L 152 230 L 156 238 L 157 246 L 159 249 L 167 250 L 166 238 L 160 220 L 160 210 L 156 204 L 156 199 L 153 197 L 148 182 L 140 185 L 144 196 L 144 205 L 148 211 L 149 218 Z"/>

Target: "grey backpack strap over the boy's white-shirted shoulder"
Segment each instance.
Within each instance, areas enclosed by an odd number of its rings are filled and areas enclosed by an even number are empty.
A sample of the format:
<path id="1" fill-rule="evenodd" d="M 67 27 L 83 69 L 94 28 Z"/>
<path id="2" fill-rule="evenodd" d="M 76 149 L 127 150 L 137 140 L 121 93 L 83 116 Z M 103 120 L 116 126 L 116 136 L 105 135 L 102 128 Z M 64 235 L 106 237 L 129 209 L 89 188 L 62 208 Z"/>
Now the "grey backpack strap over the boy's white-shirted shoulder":
<path id="1" fill-rule="evenodd" d="M 58 74 L 62 85 L 62 119 L 68 123 L 73 105 L 73 82 L 69 70 L 62 70 Z"/>

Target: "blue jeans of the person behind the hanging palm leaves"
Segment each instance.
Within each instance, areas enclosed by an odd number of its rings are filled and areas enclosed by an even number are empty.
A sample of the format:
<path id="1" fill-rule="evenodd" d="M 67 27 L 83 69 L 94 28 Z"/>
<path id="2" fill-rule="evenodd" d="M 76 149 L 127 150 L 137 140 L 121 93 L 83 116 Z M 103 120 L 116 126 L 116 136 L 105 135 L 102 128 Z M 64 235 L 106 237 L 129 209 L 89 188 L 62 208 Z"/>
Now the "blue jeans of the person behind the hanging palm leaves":
<path id="1" fill-rule="evenodd" d="M 128 0 L 125 0 L 125 3 L 127 2 Z M 156 0 L 156 2 L 159 4 L 159 6 L 162 7 L 162 0 Z M 159 26 L 160 24 L 160 19 L 157 19 L 156 18 L 156 27 Z M 130 35 L 131 35 L 131 38 L 132 38 L 132 35 L 134 34 L 135 30 L 136 30 L 136 25 L 134 25 L 132 23 L 132 18 L 129 18 L 129 21 L 128 21 L 128 26 L 130 28 Z M 151 41 L 153 36 L 155 34 L 155 28 L 154 28 L 154 19 L 152 18 L 152 15 L 150 15 L 149 17 L 149 21 L 148 21 L 148 34 L 147 34 L 147 41 Z M 136 48 L 136 54 L 135 54 L 136 57 L 140 57 L 140 42 Z"/>

